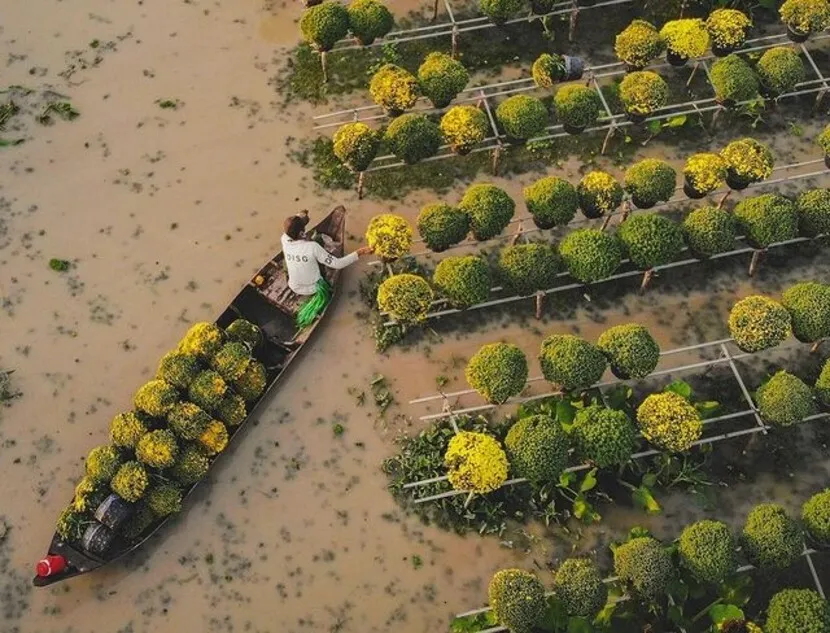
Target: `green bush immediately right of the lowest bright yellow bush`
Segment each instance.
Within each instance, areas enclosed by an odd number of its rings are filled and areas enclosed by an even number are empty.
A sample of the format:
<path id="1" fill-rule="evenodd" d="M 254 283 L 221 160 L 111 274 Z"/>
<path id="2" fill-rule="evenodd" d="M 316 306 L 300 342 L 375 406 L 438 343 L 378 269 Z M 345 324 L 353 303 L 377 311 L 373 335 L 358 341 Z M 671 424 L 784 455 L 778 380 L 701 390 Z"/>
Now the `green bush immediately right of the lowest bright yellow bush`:
<path id="1" fill-rule="evenodd" d="M 559 481 L 568 464 L 568 444 L 561 425 L 547 415 L 519 420 L 504 438 L 507 458 L 515 473 L 537 485 Z"/>

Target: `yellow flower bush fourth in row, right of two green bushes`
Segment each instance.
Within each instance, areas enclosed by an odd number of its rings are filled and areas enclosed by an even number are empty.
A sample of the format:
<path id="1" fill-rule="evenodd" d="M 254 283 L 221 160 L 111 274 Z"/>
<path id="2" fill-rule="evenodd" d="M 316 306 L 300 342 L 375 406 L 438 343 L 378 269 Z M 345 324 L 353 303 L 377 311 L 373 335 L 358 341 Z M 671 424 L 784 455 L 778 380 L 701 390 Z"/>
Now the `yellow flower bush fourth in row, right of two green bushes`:
<path id="1" fill-rule="evenodd" d="M 703 433 L 700 414 L 674 392 L 654 393 L 637 409 L 637 422 L 649 442 L 672 453 L 692 447 Z"/>

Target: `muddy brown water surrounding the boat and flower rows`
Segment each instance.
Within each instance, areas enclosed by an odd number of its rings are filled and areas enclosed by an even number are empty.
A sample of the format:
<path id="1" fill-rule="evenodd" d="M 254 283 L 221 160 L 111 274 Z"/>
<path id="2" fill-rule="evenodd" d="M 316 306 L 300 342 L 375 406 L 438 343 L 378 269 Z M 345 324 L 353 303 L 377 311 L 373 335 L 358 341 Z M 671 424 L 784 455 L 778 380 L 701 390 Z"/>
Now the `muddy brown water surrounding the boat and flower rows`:
<path id="1" fill-rule="evenodd" d="M 269 79 L 280 47 L 295 41 L 298 13 L 288 3 L 33 0 L 4 16 L 3 84 L 50 88 L 81 117 L 39 126 L 35 104 L 15 129 L 26 142 L 0 154 L 0 367 L 16 370 L 23 392 L 0 411 L 2 633 L 444 630 L 451 614 L 484 600 L 494 570 L 543 566 L 571 544 L 530 526 L 529 551 L 511 549 L 403 516 L 379 464 L 398 432 L 420 428 L 409 399 L 434 392 L 438 375 L 463 388 L 453 359 L 485 342 L 511 340 L 533 357 L 552 331 L 593 338 L 638 320 L 664 347 L 695 343 L 723 335 L 736 296 L 830 273 L 821 256 L 788 272 L 773 256 L 777 266 L 751 282 L 737 268 L 713 267 L 683 291 L 669 284 L 602 308 L 575 295 L 554 304 L 555 320 L 523 326 L 500 313 L 448 327 L 440 343 L 378 356 L 360 315 L 362 271 L 351 270 L 304 360 L 173 525 L 123 562 L 33 590 L 33 564 L 84 455 L 106 441 L 109 420 L 187 325 L 218 314 L 278 248 L 287 212 L 307 207 L 319 217 L 343 202 L 359 235 L 372 215 L 414 218 L 432 197 L 389 204 L 321 193 L 286 156 L 287 139 L 310 133 L 311 111 L 277 108 Z M 162 100 L 178 107 L 160 108 Z M 804 138 L 776 142 L 784 160 L 815 153 Z M 658 142 L 645 152 L 678 155 Z M 499 182 L 518 196 L 529 177 Z M 53 257 L 71 270 L 51 271 Z M 679 285 L 686 275 L 678 273 Z M 712 289 L 715 300 L 705 294 Z M 368 393 L 379 373 L 398 402 L 383 418 L 354 395 Z M 827 462 L 807 470 L 798 473 L 804 494 L 826 481 Z M 791 491 L 756 482 L 740 505 Z M 638 523 L 670 536 L 695 514 L 686 505 L 678 497 L 657 519 L 608 509 L 577 548 Z"/>

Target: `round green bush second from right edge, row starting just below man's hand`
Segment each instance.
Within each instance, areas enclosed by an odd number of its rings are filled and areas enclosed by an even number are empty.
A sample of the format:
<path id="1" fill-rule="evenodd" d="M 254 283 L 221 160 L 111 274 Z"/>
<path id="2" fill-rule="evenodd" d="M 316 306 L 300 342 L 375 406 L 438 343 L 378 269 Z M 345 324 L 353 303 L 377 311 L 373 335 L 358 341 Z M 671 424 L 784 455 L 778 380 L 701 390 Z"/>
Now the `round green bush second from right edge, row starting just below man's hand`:
<path id="1" fill-rule="evenodd" d="M 798 236 L 795 203 L 784 196 L 765 193 L 741 200 L 734 213 L 747 241 L 756 248 L 767 248 Z"/>

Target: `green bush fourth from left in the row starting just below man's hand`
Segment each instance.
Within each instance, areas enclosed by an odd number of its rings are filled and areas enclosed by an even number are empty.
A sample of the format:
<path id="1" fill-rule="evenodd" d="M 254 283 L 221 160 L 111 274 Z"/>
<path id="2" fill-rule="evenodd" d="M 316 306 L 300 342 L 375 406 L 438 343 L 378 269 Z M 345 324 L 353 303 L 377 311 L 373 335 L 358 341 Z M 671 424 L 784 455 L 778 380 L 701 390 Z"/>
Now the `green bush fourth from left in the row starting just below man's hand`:
<path id="1" fill-rule="evenodd" d="M 559 245 L 568 272 L 582 283 L 610 277 L 622 262 L 622 244 L 615 235 L 597 229 L 569 233 Z"/>

